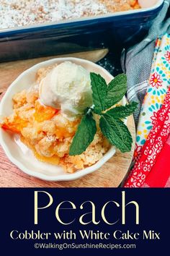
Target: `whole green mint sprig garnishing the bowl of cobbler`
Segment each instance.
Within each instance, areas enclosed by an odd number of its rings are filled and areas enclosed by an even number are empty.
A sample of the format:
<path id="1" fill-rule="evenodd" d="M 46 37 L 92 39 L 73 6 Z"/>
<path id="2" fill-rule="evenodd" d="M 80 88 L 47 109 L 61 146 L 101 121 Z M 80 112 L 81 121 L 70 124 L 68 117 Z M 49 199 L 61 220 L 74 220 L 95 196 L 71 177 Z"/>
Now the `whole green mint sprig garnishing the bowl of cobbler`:
<path id="1" fill-rule="evenodd" d="M 132 148 L 133 139 L 128 127 L 121 119 L 125 119 L 135 111 L 138 103 L 130 103 L 125 106 L 116 106 L 127 90 L 127 77 L 119 74 L 107 85 L 100 74 L 90 73 L 91 88 L 94 106 L 86 110 L 86 114 L 81 119 L 81 123 L 73 137 L 69 155 L 80 155 L 94 140 L 97 132 L 96 121 L 93 112 L 100 116 L 99 127 L 104 137 L 115 145 L 122 153 L 128 152 Z M 111 108 L 108 110 L 108 108 Z"/>

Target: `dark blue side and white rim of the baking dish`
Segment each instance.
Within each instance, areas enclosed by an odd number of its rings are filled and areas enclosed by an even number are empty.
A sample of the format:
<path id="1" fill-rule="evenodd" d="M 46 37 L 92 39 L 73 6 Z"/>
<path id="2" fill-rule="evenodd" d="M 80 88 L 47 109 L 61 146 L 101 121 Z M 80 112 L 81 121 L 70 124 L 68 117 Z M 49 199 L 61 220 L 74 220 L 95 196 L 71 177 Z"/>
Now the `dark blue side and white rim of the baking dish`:
<path id="1" fill-rule="evenodd" d="M 146 35 L 164 0 L 148 9 L 0 30 L 0 61 L 109 48 L 119 53 Z"/>

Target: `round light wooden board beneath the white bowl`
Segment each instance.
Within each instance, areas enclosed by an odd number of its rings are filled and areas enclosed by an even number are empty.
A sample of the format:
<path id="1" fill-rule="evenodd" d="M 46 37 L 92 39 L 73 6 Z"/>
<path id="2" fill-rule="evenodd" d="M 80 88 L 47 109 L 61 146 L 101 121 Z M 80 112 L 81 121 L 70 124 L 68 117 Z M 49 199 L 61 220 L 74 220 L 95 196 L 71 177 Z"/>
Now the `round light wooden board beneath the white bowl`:
<path id="1" fill-rule="evenodd" d="M 64 56 L 75 56 L 96 62 L 102 59 L 107 52 L 107 49 L 102 49 Z M 25 69 L 32 67 L 32 65 L 40 61 L 54 57 L 56 56 L 0 64 L 0 93 L 3 93 L 12 81 Z M 45 182 L 28 176 L 9 161 L 4 150 L 0 147 L 0 187 L 118 187 L 122 179 L 127 175 L 133 158 L 135 148 L 135 123 L 133 116 L 128 118 L 128 128 L 133 136 L 133 147 L 130 153 L 122 154 L 117 151 L 102 168 L 99 168 L 99 170 L 81 179 L 71 182 Z"/>

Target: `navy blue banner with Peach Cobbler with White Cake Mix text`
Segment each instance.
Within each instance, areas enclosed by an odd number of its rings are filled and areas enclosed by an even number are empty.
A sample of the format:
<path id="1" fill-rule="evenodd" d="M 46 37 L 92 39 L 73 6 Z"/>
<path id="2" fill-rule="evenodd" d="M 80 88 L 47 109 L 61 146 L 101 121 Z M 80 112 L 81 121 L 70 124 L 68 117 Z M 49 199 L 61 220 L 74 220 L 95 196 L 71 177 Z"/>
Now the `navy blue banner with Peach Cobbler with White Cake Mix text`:
<path id="1" fill-rule="evenodd" d="M 169 196 L 170 189 L 0 189 L 1 255 L 167 255 Z"/>

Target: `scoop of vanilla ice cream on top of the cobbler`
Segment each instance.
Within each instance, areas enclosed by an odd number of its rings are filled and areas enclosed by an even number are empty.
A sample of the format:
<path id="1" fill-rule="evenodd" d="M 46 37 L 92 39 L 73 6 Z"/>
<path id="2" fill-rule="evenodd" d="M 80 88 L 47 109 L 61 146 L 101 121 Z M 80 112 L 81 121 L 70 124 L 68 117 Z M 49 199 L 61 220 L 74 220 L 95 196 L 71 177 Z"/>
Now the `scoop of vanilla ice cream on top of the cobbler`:
<path id="1" fill-rule="evenodd" d="M 75 119 L 92 105 L 90 74 L 83 67 L 65 61 L 42 79 L 39 93 L 43 104 L 61 109 L 68 119 Z"/>

